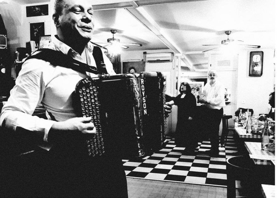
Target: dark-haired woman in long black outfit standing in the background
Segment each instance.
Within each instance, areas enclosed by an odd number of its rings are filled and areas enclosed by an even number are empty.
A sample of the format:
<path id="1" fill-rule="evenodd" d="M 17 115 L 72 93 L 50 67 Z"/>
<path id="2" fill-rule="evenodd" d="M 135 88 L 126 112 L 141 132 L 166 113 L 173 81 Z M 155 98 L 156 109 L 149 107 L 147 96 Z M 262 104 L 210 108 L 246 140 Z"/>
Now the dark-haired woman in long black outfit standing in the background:
<path id="1" fill-rule="evenodd" d="M 175 131 L 175 144 L 186 147 L 185 153 L 194 152 L 198 146 L 195 130 L 196 98 L 187 82 L 180 85 L 180 94 L 170 101 L 178 106 L 178 118 Z"/>

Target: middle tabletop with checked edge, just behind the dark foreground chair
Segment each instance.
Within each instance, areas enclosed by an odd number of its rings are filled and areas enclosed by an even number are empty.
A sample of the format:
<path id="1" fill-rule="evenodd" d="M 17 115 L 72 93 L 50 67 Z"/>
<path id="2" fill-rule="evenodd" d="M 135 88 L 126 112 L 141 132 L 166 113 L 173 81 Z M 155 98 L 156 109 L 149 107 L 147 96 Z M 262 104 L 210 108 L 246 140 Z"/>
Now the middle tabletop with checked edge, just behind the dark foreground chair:
<path id="1" fill-rule="evenodd" d="M 275 153 L 262 150 L 260 142 L 244 142 L 244 145 L 255 164 L 270 165 L 275 160 Z"/>

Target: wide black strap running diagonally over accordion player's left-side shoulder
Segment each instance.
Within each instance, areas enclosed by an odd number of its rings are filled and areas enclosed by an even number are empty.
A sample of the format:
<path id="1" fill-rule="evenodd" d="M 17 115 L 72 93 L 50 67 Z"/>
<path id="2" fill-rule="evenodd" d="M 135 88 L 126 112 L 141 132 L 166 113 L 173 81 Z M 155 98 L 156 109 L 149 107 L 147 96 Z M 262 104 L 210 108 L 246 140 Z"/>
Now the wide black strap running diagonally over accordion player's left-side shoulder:
<path id="1" fill-rule="evenodd" d="M 32 56 L 30 56 L 26 60 L 29 60 L 31 58 L 41 59 L 51 63 L 52 65 L 70 68 L 83 74 L 86 74 L 86 72 L 99 74 L 99 71 L 96 67 L 77 61 L 74 58 L 65 55 L 63 52 L 55 51 L 48 48 L 38 49 L 36 52 L 33 53 Z"/>

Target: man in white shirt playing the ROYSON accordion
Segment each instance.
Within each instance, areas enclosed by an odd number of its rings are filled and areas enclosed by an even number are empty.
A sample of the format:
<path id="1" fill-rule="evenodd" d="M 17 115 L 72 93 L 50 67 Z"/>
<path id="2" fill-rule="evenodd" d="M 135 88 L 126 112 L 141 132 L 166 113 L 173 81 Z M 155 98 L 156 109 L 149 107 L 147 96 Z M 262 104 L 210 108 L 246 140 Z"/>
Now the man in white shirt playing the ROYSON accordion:
<path id="1" fill-rule="evenodd" d="M 89 0 L 56 0 L 53 21 L 57 35 L 46 48 L 96 67 L 94 46 L 89 42 L 93 18 Z M 109 59 L 102 56 L 108 74 L 115 74 Z M 80 142 L 85 140 L 84 135 L 96 133 L 91 118 L 76 117 L 72 106 L 77 82 L 87 77 L 97 75 L 36 58 L 22 65 L 16 85 L 3 107 L 1 127 L 29 130 L 53 146 L 49 146 L 49 160 L 40 170 L 42 184 L 34 182 L 39 186 L 34 189 L 36 192 L 28 195 L 19 192 L 19 197 L 128 197 L 126 176 L 117 151 L 89 158 L 87 153 L 78 150 Z M 32 116 L 39 103 L 49 113 L 48 120 Z"/>

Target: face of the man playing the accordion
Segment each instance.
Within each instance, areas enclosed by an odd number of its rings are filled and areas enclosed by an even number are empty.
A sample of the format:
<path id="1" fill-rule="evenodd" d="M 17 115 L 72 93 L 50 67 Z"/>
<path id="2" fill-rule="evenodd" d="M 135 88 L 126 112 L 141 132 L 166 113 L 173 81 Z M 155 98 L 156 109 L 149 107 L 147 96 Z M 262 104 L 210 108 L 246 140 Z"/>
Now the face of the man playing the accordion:
<path id="1" fill-rule="evenodd" d="M 88 0 L 65 0 L 60 29 L 66 39 L 91 40 L 94 28 L 93 8 Z"/>

